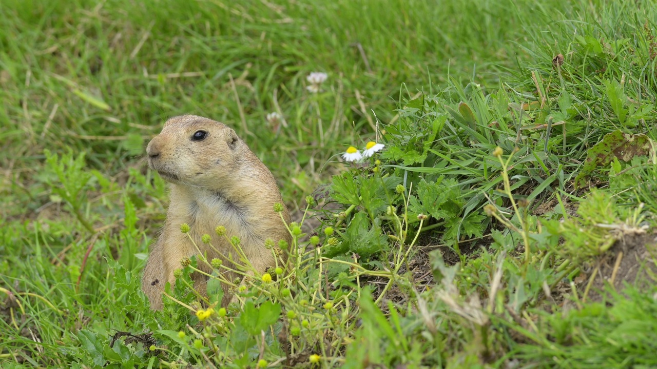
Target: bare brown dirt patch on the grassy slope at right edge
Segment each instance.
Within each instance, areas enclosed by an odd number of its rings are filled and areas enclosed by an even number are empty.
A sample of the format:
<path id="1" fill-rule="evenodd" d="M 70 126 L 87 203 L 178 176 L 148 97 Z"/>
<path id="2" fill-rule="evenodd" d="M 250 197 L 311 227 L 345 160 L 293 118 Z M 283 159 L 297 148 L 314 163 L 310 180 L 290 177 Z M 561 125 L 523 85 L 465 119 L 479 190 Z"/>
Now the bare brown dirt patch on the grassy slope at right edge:
<path id="1" fill-rule="evenodd" d="M 608 294 L 607 284 L 618 292 L 627 285 L 642 290 L 654 285 L 657 283 L 657 234 L 628 235 L 618 240 L 600 259 L 594 272 L 589 301 L 602 301 Z"/>

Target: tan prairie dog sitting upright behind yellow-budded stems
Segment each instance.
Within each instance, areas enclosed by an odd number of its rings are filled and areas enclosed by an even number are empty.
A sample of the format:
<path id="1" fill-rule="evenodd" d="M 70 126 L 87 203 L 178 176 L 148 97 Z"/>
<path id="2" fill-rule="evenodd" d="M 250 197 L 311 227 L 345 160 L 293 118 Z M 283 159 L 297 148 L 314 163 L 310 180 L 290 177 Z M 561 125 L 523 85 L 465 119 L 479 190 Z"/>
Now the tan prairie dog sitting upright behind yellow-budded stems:
<path id="1" fill-rule="evenodd" d="M 237 261 L 226 238 L 215 234 L 217 226 L 225 227 L 229 238 L 240 238 L 242 250 L 259 272 L 275 265 L 272 251 L 265 248 L 267 238 L 292 242 L 281 216 L 273 210 L 275 203 L 283 204 L 283 218 L 290 222 L 276 180 L 227 125 L 199 116 L 171 118 L 148 143 L 147 154 L 148 166 L 171 183 L 166 221 L 142 278 L 151 309 L 162 309 L 164 285 L 175 282 L 173 271 L 181 268 L 181 259 L 198 254 L 189 236 L 201 253 L 207 253 L 208 261 L 219 258 L 234 269 L 201 240 L 210 234 L 214 248 L 225 256 L 232 253 Z M 180 230 L 183 223 L 190 227 L 189 236 Z M 198 269 L 211 272 L 200 260 Z M 237 275 L 226 272 L 224 276 L 233 280 Z M 196 290 L 205 295 L 206 276 L 196 273 L 194 281 Z M 231 295 L 227 288 L 223 290 L 221 305 L 227 305 Z"/>

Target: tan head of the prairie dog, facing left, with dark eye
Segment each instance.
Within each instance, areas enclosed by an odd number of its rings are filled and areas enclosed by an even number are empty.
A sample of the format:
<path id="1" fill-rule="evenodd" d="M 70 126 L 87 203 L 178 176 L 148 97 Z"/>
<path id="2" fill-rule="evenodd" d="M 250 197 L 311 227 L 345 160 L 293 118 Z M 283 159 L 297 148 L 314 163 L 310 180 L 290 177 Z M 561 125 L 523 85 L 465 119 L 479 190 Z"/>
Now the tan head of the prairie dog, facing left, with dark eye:
<path id="1" fill-rule="evenodd" d="M 148 166 L 171 183 L 217 188 L 251 154 L 227 125 L 199 116 L 173 117 L 148 142 Z"/>

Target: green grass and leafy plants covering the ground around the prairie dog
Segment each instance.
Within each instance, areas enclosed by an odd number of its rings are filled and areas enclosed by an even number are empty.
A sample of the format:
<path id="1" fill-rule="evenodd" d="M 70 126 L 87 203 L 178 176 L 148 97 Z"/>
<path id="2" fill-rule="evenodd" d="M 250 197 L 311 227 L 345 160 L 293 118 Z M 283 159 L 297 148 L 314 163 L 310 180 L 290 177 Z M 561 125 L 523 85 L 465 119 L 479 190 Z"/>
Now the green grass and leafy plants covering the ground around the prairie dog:
<path id="1" fill-rule="evenodd" d="M 3 1 L 0 362 L 656 366 L 654 9 Z M 186 113 L 272 169 L 291 263 L 219 309 L 190 293 L 194 259 L 153 313 L 167 192 L 141 156 Z M 386 149 L 338 158 L 370 140 Z"/>

